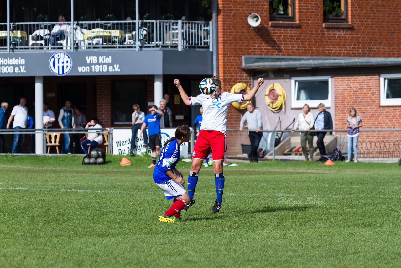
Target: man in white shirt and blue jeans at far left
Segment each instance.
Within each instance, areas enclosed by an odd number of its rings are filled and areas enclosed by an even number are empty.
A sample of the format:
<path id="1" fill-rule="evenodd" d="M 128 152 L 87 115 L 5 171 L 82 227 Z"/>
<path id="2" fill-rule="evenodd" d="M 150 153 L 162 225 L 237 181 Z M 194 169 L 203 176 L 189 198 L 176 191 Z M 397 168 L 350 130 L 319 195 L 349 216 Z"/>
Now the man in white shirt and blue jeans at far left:
<path id="1" fill-rule="evenodd" d="M 12 129 L 25 129 L 26 119 L 28 118 L 28 109 L 25 107 L 26 99 L 20 98 L 20 104 L 14 106 L 11 115 L 8 118 L 6 129 L 10 129 L 12 119 Z M 14 134 L 14 141 L 12 142 L 12 153 L 21 153 L 22 143 L 24 143 L 25 134 Z"/>

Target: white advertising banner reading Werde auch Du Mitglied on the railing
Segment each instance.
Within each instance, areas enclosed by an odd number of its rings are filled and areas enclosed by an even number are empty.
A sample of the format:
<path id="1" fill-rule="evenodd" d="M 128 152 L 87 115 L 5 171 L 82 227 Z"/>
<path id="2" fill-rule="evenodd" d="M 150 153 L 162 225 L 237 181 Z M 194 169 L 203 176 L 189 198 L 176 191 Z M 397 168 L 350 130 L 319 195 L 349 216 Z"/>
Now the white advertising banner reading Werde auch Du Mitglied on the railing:
<path id="1" fill-rule="evenodd" d="M 174 137 L 175 133 L 174 128 L 172 129 L 161 129 L 161 134 L 162 134 L 162 146 L 163 144 L 170 139 L 171 137 Z M 146 129 L 146 131 L 148 131 Z M 192 131 L 192 128 L 191 128 Z M 145 153 L 147 151 L 148 154 L 151 154 L 152 151 L 150 149 L 146 149 L 144 146 L 144 139 L 143 137 L 140 137 L 140 130 L 138 130 L 138 134 L 136 136 L 136 146 L 134 149 L 134 153 L 136 155 L 141 155 L 142 153 Z M 130 148 L 131 148 L 131 136 L 132 136 L 132 131 L 131 129 L 113 129 L 113 154 L 122 154 L 126 155 L 130 153 Z M 188 158 L 188 143 L 184 142 L 180 145 L 180 154 L 181 157 L 183 158 Z"/>

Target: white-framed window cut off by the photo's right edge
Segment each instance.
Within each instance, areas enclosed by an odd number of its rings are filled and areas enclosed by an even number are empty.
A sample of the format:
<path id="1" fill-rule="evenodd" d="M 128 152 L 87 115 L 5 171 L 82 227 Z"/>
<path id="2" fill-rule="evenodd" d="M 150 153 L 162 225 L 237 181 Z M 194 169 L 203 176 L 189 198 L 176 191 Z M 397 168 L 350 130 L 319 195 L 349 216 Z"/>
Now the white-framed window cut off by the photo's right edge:
<path id="1" fill-rule="evenodd" d="M 380 76 L 380 105 L 401 106 L 401 74 Z"/>

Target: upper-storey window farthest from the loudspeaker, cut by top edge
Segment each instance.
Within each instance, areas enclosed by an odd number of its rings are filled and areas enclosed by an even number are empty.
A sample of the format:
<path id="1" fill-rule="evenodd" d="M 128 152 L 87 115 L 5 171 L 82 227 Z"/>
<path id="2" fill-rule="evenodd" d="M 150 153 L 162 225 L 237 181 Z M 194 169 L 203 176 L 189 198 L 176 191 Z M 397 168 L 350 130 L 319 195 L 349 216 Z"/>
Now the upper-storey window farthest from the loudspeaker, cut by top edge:
<path id="1" fill-rule="evenodd" d="M 348 0 L 323 0 L 323 21 L 325 23 L 347 23 Z"/>

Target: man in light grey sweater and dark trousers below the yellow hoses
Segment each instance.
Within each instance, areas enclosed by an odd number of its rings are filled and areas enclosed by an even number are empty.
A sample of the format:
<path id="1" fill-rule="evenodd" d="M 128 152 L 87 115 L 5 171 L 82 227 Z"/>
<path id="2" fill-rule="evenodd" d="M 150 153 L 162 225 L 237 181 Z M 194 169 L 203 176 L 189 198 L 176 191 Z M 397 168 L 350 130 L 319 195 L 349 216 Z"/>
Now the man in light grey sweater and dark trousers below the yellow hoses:
<path id="1" fill-rule="evenodd" d="M 257 148 L 259 147 L 259 143 L 263 135 L 261 132 L 259 132 L 263 128 L 262 114 L 259 110 L 255 109 L 255 106 L 251 102 L 247 104 L 247 112 L 241 118 L 239 123 L 239 131 L 243 130 L 245 122 L 247 122 L 249 130 L 256 131 L 249 131 L 249 140 L 251 141 L 251 151 L 248 154 L 249 162 L 259 162 Z"/>

